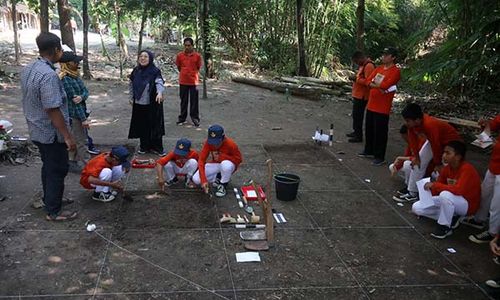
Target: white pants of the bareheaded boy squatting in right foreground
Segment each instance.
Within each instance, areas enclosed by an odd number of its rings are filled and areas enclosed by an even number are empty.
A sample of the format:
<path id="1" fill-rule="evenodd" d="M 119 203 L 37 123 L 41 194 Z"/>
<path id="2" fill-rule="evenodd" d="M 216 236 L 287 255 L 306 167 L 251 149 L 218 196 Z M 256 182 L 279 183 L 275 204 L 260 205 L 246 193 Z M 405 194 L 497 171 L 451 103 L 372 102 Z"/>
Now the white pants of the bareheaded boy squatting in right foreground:
<path id="1" fill-rule="evenodd" d="M 411 210 L 418 216 L 428 217 L 438 221 L 438 224 L 450 227 L 451 219 L 455 215 L 465 216 L 469 203 L 462 196 L 442 191 L 439 196 L 432 197 L 434 205 L 424 208 L 422 201 L 413 203 Z"/>

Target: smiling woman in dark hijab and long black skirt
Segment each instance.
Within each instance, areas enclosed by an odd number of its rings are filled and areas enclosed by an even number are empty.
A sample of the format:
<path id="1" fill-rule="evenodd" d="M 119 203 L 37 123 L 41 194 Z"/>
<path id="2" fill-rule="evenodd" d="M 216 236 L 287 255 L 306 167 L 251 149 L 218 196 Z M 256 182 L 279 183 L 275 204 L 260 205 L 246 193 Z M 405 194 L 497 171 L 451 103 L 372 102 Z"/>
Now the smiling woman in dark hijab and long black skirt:
<path id="1" fill-rule="evenodd" d="M 130 74 L 129 91 L 132 104 L 129 139 L 139 138 L 137 153 L 157 152 L 164 156 L 162 136 L 165 135 L 163 119 L 163 78 L 154 63 L 154 54 L 143 50 L 137 66 Z"/>

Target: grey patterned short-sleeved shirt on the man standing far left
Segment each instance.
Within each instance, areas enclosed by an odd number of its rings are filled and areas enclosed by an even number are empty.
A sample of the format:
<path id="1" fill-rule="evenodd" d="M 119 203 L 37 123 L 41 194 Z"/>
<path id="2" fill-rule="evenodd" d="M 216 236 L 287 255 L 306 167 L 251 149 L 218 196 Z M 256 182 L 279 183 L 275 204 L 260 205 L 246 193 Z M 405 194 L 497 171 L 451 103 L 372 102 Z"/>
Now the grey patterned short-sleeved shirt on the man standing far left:
<path id="1" fill-rule="evenodd" d="M 52 125 L 46 112 L 51 108 L 59 108 L 66 126 L 69 126 L 66 93 L 54 65 L 44 58 L 38 58 L 24 67 L 21 72 L 21 90 L 24 116 L 31 140 L 50 144 L 57 139 L 58 142 L 64 143 L 63 136 Z"/>

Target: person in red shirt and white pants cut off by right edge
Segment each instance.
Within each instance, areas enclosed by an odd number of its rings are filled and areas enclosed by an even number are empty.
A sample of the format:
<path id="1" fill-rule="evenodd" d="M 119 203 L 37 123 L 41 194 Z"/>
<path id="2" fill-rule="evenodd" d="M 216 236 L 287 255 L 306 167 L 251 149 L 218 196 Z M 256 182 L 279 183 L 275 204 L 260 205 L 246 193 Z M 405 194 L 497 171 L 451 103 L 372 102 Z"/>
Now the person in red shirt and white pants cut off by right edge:
<path id="1" fill-rule="evenodd" d="M 488 134 L 491 131 L 500 132 L 500 115 L 490 121 L 480 120 L 479 125 L 484 127 L 484 131 Z M 472 242 L 487 243 L 500 233 L 500 135 L 497 137 L 488 170 L 481 185 L 481 205 L 474 217 L 467 218 L 462 223 L 484 229 L 488 213 L 490 214 L 488 230 L 470 235 L 469 240 Z"/>

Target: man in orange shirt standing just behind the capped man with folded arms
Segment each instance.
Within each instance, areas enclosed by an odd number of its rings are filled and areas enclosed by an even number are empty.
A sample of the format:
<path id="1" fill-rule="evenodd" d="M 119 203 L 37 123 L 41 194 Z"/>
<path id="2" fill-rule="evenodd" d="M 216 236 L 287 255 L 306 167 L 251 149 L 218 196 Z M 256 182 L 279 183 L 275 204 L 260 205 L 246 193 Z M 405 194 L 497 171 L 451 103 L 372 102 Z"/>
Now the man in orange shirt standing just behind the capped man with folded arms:
<path id="1" fill-rule="evenodd" d="M 358 73 L 352 84 L 352 129 L 354 131 L 346 134 L 346 136 L 350 137 L 349 143 L 361 143 L 363 141 L 363 119 L 368 95 L 370 94 L 366 79 L 375 69 L 375 65 L 361 51 L 354 52 L 352 61 L 358 65 Z"/>

